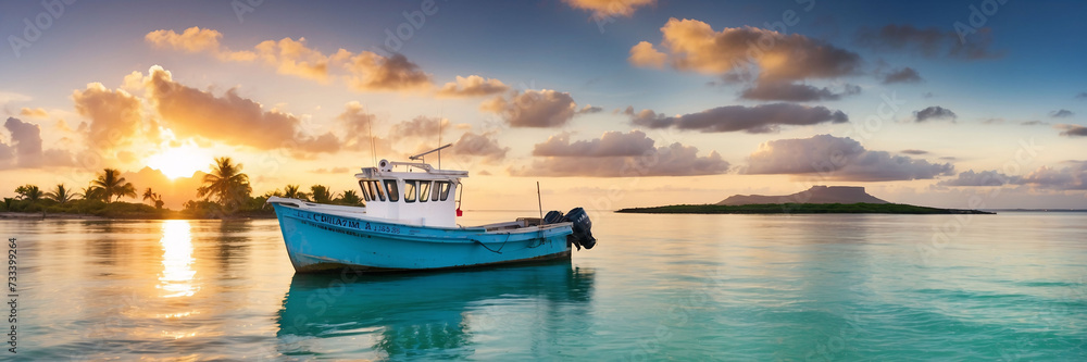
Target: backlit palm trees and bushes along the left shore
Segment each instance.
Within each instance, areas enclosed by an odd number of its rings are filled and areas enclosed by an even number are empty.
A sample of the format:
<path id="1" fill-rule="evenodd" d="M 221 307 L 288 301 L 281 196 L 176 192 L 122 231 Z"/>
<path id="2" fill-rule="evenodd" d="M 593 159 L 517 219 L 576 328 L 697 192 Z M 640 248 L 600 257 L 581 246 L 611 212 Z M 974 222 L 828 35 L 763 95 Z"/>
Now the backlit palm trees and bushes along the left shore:
<path id="1" fill-rule="evenodd" d="M 196 200 L 184 203 L 182 210 L 164 209 L 162 196 L 150 187 L 142 194 L 136 185 L 121 176 L 116 168 L 104 168 L 86 187 L 75 191 L 67 185 L 59 184 L 46 191 L 37 185 L 15 188 L 16 197 L 4 198 L 0 212 L 8 216 L 34 217 L 49 215 L 60 217 L 104 217 L 104 219 L 245 219 L 274 217 L 272 208 L 265 204 L 270 197 L 279 196 L 320 203 L 363 205 L 354 190 L 333 194 L 324 185 L 310 186 L 309 192 L 299 185 L 286 185 L 282 189 L 252 195 L 249 175 L 241 172 L 242 165 L 228 157 L 216 158 L 211 173 L 205 174 L 202 186 L 197 189 Z M 126 202 L 122 199 L 142 198 L 142 202 Z"/>

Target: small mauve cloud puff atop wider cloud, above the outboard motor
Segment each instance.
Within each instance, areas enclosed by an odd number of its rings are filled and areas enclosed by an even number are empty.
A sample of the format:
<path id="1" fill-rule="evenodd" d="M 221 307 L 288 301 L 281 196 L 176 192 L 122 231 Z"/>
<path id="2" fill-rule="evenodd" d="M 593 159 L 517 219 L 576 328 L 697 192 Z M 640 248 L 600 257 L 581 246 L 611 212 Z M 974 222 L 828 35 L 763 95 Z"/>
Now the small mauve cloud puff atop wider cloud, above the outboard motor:
<path id="1" fill-rule="evenodd" d="M 551 136 L 547 141 L 537 143 L 533 155 L 538 157 L 636 157 L 652 151 L 653 140 L 646 133 L 632 130 L 628 134 L 607 132 L 600 138 L 570 142 L 570 134 Z"/>

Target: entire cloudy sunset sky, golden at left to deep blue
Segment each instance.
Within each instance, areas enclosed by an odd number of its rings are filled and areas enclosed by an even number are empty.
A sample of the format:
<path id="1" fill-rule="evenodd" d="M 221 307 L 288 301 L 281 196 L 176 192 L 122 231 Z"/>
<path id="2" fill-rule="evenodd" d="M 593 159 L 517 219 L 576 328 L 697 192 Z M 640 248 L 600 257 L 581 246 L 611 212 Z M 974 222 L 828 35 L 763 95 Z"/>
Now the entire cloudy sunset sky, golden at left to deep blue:
<path id="1" fill-rule="evenodd" d="M 1087 208 L 1087 2 L 67 1 L 0 5 L 2 197 L 116 167 L 177 209 L 220 155 L 339 192 L 453 142 L 465 209 Z"/>

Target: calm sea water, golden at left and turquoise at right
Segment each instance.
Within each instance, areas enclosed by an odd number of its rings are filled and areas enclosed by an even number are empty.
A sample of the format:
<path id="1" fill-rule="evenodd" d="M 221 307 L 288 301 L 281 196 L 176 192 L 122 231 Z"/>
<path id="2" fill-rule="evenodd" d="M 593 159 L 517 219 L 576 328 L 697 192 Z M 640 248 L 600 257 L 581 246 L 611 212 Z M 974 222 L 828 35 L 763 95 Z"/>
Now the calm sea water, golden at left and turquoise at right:
<path id="1" fill-rule="evenodd" d="M 569 262 L 384 276 L 293 275 L 274 220 L 0 221 L 3 358 L 1087 360 L 1084 213 L 591 216 Z"/>

